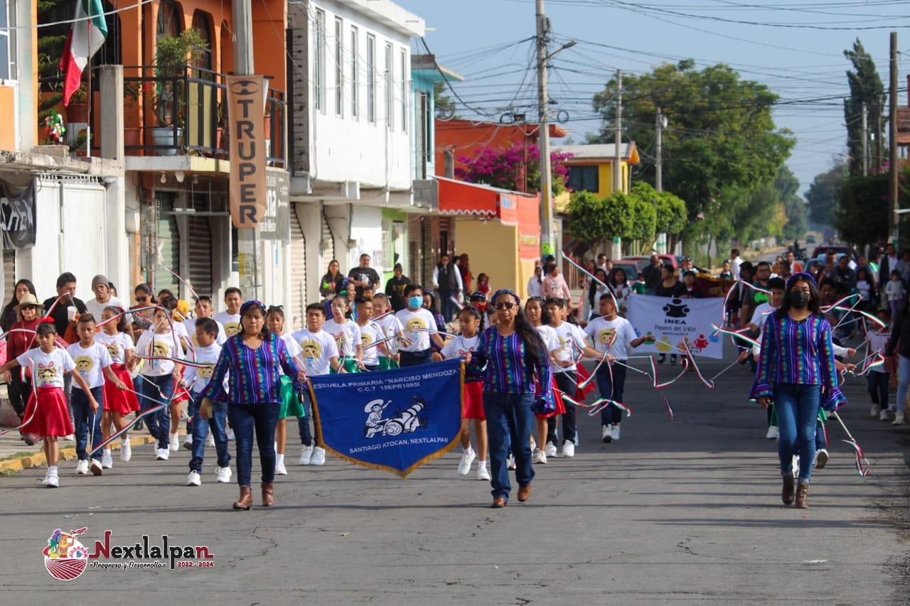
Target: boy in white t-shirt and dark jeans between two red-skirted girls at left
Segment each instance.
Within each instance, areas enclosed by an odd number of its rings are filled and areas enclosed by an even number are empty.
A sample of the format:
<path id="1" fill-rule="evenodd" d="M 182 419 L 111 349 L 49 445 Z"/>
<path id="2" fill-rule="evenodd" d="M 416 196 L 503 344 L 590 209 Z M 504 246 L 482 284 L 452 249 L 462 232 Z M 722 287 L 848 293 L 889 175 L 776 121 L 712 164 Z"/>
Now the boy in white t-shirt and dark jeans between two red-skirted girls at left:
<path id="1" fill-rule="evenodd" d="M 76 322 L 76 334 L 79 336 L 79 342 L 66 348 L 66 352 L 76 363 L 75 371 L 86 380 L 91 389 L 92 398 L 104 406 L 105 377 L 120 389 L 126 389 L 126 385 L 111 369 L 114 361 L 107 348 L 95 342 L 95 328 L 95 317 L 89 313 L 82 314 Z M 73 420 L 76 425 L 76 456 L 79 459 L 79 462 L 76 463 L 76 473 L 86 475 L 89 470 L 87 444 L 90 440 L 91 448 L 96 449 L 101 443 L 102 411 L 91 409 L 88 395 L 82 389 L 73 389 L 70 392 L 70 406 L 73 409 Z M 101 450 L 95 450 L 92 454 L 91 471 L 96 476 L 103 473 L 103 462 L 111 463 L 111 461 L 103 461 L 102 454 Z M 106 467 L 111 467 L 111 465 Z"/>

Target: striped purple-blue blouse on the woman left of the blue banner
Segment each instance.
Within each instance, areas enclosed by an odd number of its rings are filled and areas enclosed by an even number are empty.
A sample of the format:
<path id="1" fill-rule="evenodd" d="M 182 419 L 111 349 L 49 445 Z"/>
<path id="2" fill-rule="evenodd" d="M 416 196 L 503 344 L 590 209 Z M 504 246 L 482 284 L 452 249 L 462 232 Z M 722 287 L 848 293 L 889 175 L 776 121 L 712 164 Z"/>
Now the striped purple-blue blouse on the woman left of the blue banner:
<path id="1" fill-rule="evenodd" d="M 294 389 L 301 389 L 297 363 L 288 354 L 283 338 L 273 335 L 252 349 L 241 335 L 235 335 L 225 341 L 202 397 L 238 404 L 280 402 L 282 370 L 293 380 Z M 227 392 L 223 387 L 226 378 Z"/>

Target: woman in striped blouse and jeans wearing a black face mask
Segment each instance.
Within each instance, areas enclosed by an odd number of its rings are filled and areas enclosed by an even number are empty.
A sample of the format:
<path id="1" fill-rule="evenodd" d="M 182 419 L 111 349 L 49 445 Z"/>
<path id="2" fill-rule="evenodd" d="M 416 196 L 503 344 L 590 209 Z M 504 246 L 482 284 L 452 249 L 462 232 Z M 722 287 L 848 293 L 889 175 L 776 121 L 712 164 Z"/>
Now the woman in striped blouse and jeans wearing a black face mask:
<path id="1" fill-rule="evenodd" d="M 831 325 L 820 312 L 819 301 L 812 276 L 798 273 L 789 279 L 783 304 L 764 325 L 752 389 L 752 398 L 763 406 L 773 402 L 777 413 L 777 454 L 784 478 L 781 500 L 790 505 L 795 498 L 801 509 L 809 506 L 818 411 L 837 409 L 846 401 L 837 388 Z M 794 454 L 800 458 L 795 494 Z"/>

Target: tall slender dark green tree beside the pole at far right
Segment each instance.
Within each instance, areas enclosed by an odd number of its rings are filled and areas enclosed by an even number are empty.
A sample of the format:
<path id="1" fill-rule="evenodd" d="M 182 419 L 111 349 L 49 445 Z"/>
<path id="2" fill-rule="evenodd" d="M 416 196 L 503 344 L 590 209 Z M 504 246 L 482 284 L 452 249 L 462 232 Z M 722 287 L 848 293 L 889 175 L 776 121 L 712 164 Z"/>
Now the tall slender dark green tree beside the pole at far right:
<path id="1" fill-rule="evenodd" d="M 852 50 L 845 50 L 853 69 L 847 70 L 850 96 L 844 99 L 844 121 L 847 125 L 847 149 L 850 154 L 850 174 L 863 174 L 863 106 L 866 108 L 867 131 L 872 137 L 866 141 L 869 167 L 882 164 L 882 143 L 885 141 L 885 124 L 882 120 L 885 106 L 885 85 L 878 76 L 875 61 L 866 54 L 863 44 L 856 38 Z"/>

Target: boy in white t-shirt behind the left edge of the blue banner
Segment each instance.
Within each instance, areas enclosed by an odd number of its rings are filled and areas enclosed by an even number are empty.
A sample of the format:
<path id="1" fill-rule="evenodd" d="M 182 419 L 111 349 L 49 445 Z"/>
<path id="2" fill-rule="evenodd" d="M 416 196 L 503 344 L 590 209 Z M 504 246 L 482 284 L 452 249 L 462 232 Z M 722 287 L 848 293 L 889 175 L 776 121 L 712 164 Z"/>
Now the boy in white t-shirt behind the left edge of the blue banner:
<path id="1" fill-rule="evenodd" d="M 329 369 L 344 372 L 339 362 L 339 348 L 335 338 L 322 329 L 326 320 L 326 310 L 321 303 L 310 303 L 307 306 L 307 328 L 298 330 L 293 335 L 303 353 L 304 370 L 307 376 L 328 375 Z M 323 465 L 326 462 L 326 449 L 313 445 L 313 433 L 309 419 L 313 416 L 313 402 L 309 390 L 303 392 L 303 406 L 306 416 L 298 419 L 300 443 L 303 452 L 300 454 L 300 465 Z"/>

